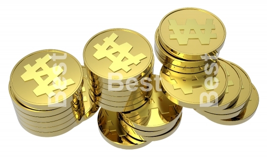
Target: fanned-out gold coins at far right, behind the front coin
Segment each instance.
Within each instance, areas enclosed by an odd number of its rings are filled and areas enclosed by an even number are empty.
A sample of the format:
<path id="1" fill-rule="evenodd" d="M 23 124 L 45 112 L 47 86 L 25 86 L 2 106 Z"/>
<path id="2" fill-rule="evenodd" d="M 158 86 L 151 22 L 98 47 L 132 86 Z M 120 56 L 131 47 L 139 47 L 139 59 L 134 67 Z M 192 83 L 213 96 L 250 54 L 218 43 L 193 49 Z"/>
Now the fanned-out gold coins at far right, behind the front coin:
<path id="1" fill-rule="evenodd" d="M 255 114 L 259 104 L 257 89 L 241 67 L 221 58 L 219 60 L 228 77 L 225 94 L 216 106 L 195 111 L 211 121 L 225 125 L 248 121 Z"/>

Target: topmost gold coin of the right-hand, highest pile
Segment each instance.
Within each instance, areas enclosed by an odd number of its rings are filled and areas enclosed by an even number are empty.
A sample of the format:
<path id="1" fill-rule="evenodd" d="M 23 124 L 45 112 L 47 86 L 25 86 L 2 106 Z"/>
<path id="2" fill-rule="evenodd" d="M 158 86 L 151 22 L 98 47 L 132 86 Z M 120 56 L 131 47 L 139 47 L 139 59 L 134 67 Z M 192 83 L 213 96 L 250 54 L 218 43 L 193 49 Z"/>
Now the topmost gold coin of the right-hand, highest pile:
<path id="1" fill-rule="evenodd" d="M 226 31 L 213 13 L 199 8 L 180 8 L 168 13 L 160 22 L 159 38 L 174 56 L 202 60 L 223 47 Z"/>

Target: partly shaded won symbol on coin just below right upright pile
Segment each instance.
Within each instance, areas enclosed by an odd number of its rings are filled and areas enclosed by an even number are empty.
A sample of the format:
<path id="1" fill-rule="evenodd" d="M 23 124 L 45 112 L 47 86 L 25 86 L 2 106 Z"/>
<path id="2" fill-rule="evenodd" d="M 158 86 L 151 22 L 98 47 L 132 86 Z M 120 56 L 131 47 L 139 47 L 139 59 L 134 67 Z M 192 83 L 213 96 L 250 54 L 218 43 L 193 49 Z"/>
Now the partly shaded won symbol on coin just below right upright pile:
<path id="1" fill-rule="evenodd" d="M 201 77 L 197 77 L 196 75 L 192 76 L 186 76 L 182 78 L 173 77 L 170 74 L 171 80 L 175 80 L 176 84 L 173 84 L 174 89 L 181 89 L 184 94 L 192 94 L 193 88 L 199 88 L 203 86 L 206 91 L 213 90 L 214 85 L 211 85 L 211 88 L 207 88 L 204 84 L 204 81 L 206 79 L 206 74 L 202 75 Z M 216 79 L 212 79 L 213 83 L 220 82 L 220 80 L 216 77 Z M 186 85 L 185 85 L 186 84 Z M 191 87 L 189 87 L 191 86 Z"/>

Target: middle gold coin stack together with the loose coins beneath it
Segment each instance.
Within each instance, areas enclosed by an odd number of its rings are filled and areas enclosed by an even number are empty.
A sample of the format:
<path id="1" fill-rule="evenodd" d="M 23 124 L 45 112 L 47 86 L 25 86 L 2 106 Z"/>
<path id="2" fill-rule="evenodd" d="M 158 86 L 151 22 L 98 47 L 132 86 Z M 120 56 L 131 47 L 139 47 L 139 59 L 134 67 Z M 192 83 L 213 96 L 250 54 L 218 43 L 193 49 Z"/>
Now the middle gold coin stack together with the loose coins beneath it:
<path id="1" fill-rule="evenodd" d="M 110 29 L 93 36 L 84 49 L 89 95 L 101 107 L 102 137 L 122 149 L 136 149 L 168 137 L 181 120 L 182 107 L 164 96 L 153 75 L 154 56 L 142 35 Z"/>

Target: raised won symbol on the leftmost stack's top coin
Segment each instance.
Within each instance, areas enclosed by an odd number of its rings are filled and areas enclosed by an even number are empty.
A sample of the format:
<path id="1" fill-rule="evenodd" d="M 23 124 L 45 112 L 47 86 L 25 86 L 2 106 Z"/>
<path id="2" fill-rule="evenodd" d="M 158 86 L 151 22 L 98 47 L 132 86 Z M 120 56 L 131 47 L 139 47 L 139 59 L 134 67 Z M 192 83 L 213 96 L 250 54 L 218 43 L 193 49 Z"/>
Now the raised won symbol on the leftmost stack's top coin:
<path id="1" fill-rule="evenodd" d="M 36 96 L 47 94 L 47 96 L 51 98 L 55 95 L 53 92 L 54 90 L 60 89 L 63 91 L 67 88 L 67 86 L 75 83 L 72 79 L 62 81 L 58 78 L 58 76 L 63 72 L 63 69 L 60 66 L 49 68 L 46 63 L 51 58 L 52 57 L 47 54 L 43 58 L 35 60 L 35 65 L 31 66 L 30 64 L 27 64 L 24 66 L 26 72 L 20 76 L 24 81 L 35 80 L 38 83 L 38 86 L 33 90 Z M 40 68 L 42 71 L 37 72 Z M 42 76 L 45 75 L 48 77 L 43 80 Z M 49 85 L 52 81 L 54 84 Z"/>

